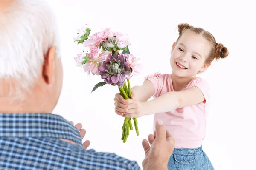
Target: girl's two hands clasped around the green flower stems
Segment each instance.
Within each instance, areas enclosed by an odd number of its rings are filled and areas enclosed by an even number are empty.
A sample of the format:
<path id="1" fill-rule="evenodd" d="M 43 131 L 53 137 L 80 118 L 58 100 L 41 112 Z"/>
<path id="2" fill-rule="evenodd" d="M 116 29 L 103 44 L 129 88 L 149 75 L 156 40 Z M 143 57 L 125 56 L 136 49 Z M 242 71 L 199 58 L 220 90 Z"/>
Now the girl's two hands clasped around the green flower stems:
<path id="1" fill-rule="evenodd" d="M 138 118 L 145 115 L 143 102 L 137 100 L 135 96 L 136 94 L 132 92 L 131 99 L 123 99 L 121 94 L 116 94 L 114 99 L 116 114 L 129 118 Z"/>

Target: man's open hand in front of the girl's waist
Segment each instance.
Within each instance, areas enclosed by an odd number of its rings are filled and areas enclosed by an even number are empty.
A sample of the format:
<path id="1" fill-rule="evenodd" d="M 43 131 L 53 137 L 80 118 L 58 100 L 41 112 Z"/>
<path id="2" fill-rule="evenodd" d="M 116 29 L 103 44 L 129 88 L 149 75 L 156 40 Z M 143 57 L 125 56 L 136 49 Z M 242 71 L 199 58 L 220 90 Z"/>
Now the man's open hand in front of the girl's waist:
<path id="1" fill-rule="evenodd" d="M 154 135 L 150 134 L 148 141 L 144 139 L 142 142 L 145 151 L 145 159 L 142 162 L 143 170 L 167 170 L 174 143 L 174 138 L 165 130 L 163 122 L 158 120 Z"/>

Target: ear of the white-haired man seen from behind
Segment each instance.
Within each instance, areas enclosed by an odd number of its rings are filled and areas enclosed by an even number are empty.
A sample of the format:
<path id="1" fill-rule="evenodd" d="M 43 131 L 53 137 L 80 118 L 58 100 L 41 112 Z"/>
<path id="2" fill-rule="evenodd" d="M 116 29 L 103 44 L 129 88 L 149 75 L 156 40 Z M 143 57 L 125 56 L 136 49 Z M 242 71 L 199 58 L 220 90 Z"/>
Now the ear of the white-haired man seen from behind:
<path id="1" fill-rule="evenodd" d="M 47 84 L 53 84 L 55 79 L 55 47 L 49 48 L 44 59 L 43 77 Z"/>

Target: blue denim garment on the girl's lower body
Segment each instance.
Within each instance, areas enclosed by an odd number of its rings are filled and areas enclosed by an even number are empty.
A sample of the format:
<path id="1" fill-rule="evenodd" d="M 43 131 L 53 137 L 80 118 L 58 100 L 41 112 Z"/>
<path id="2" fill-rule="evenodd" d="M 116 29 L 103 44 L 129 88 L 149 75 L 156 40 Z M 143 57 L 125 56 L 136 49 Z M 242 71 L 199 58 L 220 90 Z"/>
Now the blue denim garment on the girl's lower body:
<path id="1" fill-rule="evenodd" d="M 169 170 L 214 170 L 202 146 L 195 149 L 175 148 L 168 162 Z"/>

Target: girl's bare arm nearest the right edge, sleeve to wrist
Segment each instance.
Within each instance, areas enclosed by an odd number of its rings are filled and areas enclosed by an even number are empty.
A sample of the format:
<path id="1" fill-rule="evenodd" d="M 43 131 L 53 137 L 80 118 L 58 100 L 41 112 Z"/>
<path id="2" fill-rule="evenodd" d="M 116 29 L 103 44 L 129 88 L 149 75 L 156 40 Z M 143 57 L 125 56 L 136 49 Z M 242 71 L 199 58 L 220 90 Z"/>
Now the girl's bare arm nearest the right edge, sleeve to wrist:
<path id="1" fill-rule="evenodd" d="M 142 102 L 143 115 L 164 113 L 177 108 L 195 105 L 204 102 L 204 100 L 203 93 L 196 86 L 183 91 L 171 91 L 156 99 Z"/>

